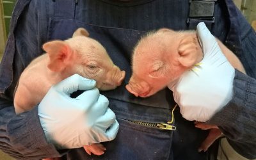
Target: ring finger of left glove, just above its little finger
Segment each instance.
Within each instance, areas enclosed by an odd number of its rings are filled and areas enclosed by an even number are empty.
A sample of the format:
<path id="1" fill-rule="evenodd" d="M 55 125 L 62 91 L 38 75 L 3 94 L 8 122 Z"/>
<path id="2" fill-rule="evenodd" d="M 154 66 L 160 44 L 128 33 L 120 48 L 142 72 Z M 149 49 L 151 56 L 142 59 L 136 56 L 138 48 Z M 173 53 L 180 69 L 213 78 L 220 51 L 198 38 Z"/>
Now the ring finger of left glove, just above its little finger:
<path id="1" fill-rule="evenodd" d="M 102 116 L 100 116 L 97 120 L 97 126 L 106 131 L 116 120 L 115 113 L 108 108 L 106 113 Z"/>

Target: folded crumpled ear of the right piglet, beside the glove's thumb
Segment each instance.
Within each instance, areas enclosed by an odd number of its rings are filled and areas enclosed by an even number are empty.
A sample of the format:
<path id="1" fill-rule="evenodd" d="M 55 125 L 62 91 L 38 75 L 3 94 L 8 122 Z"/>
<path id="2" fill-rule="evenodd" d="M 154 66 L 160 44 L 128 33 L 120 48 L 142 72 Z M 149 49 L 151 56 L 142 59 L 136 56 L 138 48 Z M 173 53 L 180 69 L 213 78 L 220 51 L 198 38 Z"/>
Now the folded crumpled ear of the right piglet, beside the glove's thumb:
<path id="1" fill-rule="evenodd" d="M 196 36 L 184 37 L 180 41 L 178 52 L 178 60 L 184 67 L 193 67 L 203 58 L 203 52 Z"/>

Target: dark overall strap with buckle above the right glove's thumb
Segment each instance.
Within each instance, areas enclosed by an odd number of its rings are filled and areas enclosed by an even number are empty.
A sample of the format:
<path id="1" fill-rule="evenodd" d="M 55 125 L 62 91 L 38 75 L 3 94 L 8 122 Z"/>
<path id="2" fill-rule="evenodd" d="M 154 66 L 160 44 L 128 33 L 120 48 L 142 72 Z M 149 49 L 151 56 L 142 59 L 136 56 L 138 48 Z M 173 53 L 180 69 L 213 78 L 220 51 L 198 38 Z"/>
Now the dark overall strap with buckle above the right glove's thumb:
<path id="1" fill-rule="evenodd" d="M 209 30 L 214 24 L 214 3 L 217 0 L 189 0 L 187 29 L 196 29 L 199 22 L 204 22 Z"/>

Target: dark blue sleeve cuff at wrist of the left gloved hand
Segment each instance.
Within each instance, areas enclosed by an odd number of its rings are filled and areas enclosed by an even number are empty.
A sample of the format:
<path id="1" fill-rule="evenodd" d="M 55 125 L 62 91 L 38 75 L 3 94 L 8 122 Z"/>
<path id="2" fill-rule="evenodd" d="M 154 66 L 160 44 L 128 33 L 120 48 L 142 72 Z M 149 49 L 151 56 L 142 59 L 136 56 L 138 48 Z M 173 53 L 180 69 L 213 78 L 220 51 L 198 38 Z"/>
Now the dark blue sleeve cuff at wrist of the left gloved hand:
<path id="1" fill-rule="evenodd" d="M 61 156 L 54 145 L 47 143 L 38 117 L 38 106 L 12 118 L 8 123 L 7 132 L 12 145 L 19 149 L 19 158 L 22 156 L 22 159 L 41 159 Z"/>

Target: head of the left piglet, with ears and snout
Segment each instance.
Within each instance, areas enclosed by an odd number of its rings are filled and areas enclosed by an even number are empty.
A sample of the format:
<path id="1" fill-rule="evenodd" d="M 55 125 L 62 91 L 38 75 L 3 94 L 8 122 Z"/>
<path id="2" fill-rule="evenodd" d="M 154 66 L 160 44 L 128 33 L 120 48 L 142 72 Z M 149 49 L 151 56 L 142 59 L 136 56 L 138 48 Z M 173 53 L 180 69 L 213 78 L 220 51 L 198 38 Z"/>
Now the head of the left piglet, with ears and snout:
<path id="1" fill-rule="evenodd" d="M 99 90 L 115 89 L 122 83 L 125 71 L 114 65 L 106 49 L 88 36 L 85 29 L 79 28 L 68 40 L 44 44 L 50 59 L 47 67 L 63 75 L 79 74 L 94 79 Z"/>

